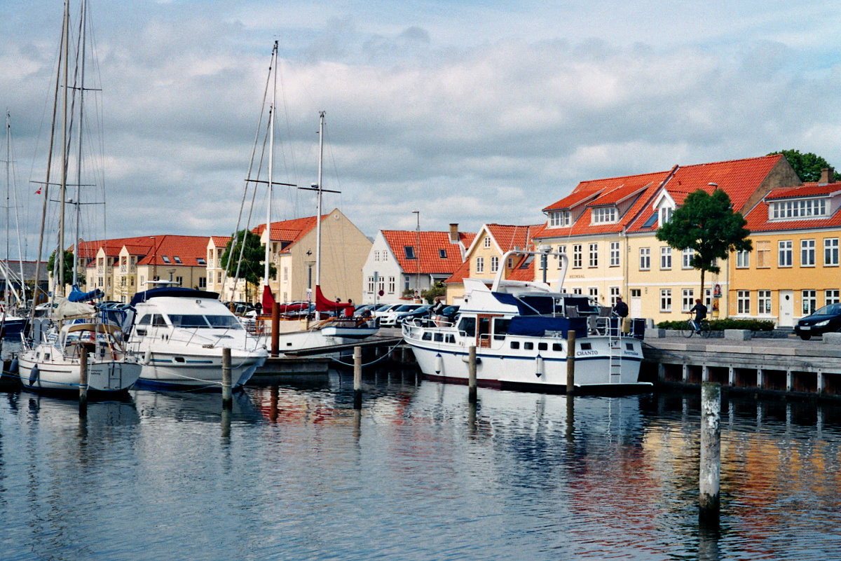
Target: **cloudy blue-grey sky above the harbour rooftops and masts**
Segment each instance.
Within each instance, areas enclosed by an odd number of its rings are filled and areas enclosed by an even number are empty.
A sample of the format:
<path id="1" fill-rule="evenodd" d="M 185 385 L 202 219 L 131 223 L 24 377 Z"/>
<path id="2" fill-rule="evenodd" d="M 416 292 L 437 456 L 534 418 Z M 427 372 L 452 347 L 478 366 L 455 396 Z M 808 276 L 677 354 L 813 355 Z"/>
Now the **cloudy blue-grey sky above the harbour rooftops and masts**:
<path id="1" fill-rule="evenodd" d="M 675 164 L 800 149 L 841 165 L 841 11 L 825 0 L 89 4 L 86 86 L 101 91 L 86 94 L 86 127 L 101 130 L 112 238 L 234 229 L 275 40 L 275 181 L 316 180 L 325 111 L 324 186 L 341 191 L 325 211 L 369 236 L 414 229 L 413 211 L 425 230 L 540 223 L 579 181 Z M 0 1 L 0 104 L 30 258 L 61 12 Z M 309 192 L 278 190 L 272 219 L 312 214 Z"/>

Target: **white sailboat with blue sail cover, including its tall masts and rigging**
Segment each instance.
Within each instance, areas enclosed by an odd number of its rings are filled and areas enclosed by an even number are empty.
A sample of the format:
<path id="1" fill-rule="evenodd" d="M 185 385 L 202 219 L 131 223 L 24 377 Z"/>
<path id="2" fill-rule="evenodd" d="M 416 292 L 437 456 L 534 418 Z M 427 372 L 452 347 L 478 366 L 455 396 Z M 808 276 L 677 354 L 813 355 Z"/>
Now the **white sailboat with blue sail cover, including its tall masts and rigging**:
<path id="1" fill-rule="evenodd" d="M 82 134 L 82 92 L 84 92 L 84 31 L 86 27 L 87 2 L 82 0 L 81 20 L 79 29 L 82 38 L 79 41 L 80 51 L 77 53 L 78 84 L 71 85 L 68 73 L 69 35 L 70 35 L 70 5 L 64 4 L 64 20 L 62 26 L 61 41 L 61 68 L 59 77 L 63 76 L 62 100 L 62 133 L 61 133 L 61 192 L 59 196 L 60 205 L 60 226 L 59 239 L 56 248 L 58 261 L 58 275 L 54 292 L 64 291 L 64 206 L 67 188 L 67 163 L 68 163 L 68 132 L 71 125 L 71 116 L 68 115 L 68 91 L 72 88 L 79 92 L 80 102 L 78 103 L 77 132 Z M 56 79 L 56 109 L 58 105 L 58 84 Z M 54 113 L 55 114 L 55 113 Z M 50 143 L 50 157 L 52 160 L 52 143 Z M 79 143 L 79 177 L 81 180 L 81 156 L 82 143 Z M 81 181 L 77 185 L 81 186 Z M 43 240 L 44 221 L 46 205 L 49 201 L 50 187 L 50 165 L 47 166 L 47 181 L 44 185 L 44 212 L 42 213 L 41 239 Z M 79 212 L 79 197 L 75 201 L 77 214 Z M 78 219 L 77 235 L 78 236 Z M 40 264 L 40 248 L 38 263 Z M 78 249 L 75 254 L 78 254 Z M 76 272 L 74 271 L 74 276 Z M 36 265 L 37 278 L 37 265 Z M 76 284 L 74 278 L 74 286 Z M 81 294 L 80 291 L 74 291 Z M 72 294 L 72 293 L 71 293 Z M 80 296 L 80 299 L 97 296 L 87 293 Z M 103 324 L 94 321 L 97 310 L 90 304 L 82 301 L 73 301 L 75 298 L 60 298 L 57 300 L 55 309 L 52 312 L 52 320 L 56 322 L 56 331 L 46 333 L 40 341 L 29 343 L 24 339 L 24 346 L 18 355 L 18 374 L 24 388 L 32 391 L 72 391 L 77 392 L 81 384 L 82 363 L 87 363 L 87 389 L 96 393 L 111 394 L 114 392 L 127 391 L 140 376 L 140 361 L 134 354 L 130 354 L 123 346 L 123 334 L 118 326 Z"/>

